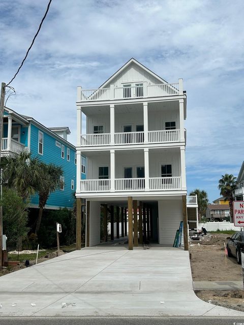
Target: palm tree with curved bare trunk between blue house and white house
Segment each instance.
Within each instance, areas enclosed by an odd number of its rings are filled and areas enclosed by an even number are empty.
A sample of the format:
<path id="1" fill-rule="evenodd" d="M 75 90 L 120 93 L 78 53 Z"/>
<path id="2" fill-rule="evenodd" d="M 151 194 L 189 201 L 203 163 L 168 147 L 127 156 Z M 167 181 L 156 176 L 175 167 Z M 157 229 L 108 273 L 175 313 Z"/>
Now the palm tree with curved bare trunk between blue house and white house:
<path id="1" fill-rule="evenodd" d="M 61 176 L 63 176 L 63 169 L 60 166 L 54 164 L 44 164 L 41 163 L 42 175 L 41 181 L 38 184 L 38 194 L 39 194 L 39 213 L 36 222 L 35 234 L 39 232 L 43 209 L 47 203 L 48 197 L 51 192 L 54 192 L 56 189 L 64 185 Z"/>

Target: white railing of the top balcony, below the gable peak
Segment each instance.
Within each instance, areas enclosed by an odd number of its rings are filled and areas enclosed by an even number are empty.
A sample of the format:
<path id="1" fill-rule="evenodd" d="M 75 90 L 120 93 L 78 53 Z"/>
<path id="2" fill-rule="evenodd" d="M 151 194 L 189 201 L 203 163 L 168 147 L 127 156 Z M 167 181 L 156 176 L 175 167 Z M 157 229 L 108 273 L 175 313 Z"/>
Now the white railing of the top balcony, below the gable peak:
<path id="1" fill-rule="evenodd" d="M 82 89 L 78 87 L 78 102 L 97 102 L 110 100 L 128 100 L 137 98 L 151 98 L 175 96 L 183 94 L 182 79 L 175 83 L 161 83 L 148 85 L 142 83 L 138 86 Z"/>

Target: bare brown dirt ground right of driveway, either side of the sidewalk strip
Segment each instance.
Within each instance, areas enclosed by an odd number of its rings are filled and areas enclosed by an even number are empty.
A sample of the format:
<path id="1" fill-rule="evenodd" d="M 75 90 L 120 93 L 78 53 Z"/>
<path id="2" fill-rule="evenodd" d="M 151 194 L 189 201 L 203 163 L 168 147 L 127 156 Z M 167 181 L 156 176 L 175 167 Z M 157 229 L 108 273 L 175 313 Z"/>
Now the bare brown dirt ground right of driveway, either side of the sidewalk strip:
<path id="1" fill-rule="evenodd" d="M 199 245 L 196 241 L 190 244 L 193 281 L 242 281 L 241 265 L 234 257 L 225 259 L 224 241 L 228 236 L 207 235 Z M 244 311 L 242 290 L 196 290 L 195 293 L 211 304 Z"/>

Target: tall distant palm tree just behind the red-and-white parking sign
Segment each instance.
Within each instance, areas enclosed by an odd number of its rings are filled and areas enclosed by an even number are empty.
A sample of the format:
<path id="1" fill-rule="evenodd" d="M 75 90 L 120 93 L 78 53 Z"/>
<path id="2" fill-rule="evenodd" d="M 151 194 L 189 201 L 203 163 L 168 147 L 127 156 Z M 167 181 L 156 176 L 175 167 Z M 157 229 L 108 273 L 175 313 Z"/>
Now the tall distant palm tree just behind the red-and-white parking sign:
<path id="1" fill-rule="evenodd" d="M 222 175 L 222 178 L 219 180 L 219 189 L 225 201 L 229 201 L 230 222 L 233 222 L 233 201 L 236 189 L 236 177 L 232 174 Z"/>

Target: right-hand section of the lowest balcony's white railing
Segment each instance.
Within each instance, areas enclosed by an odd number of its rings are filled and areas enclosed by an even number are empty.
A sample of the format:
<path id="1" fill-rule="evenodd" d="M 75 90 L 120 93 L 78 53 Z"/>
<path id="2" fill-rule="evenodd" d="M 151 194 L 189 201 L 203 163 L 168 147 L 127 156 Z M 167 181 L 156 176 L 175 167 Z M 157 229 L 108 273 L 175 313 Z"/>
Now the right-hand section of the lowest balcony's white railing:
<path id="1" fill-rule="evenodd" d="M 150 190 L 172 190 L 181 189 L 181 177 L 150 177 L 149 189 Z"/>

